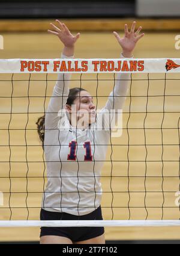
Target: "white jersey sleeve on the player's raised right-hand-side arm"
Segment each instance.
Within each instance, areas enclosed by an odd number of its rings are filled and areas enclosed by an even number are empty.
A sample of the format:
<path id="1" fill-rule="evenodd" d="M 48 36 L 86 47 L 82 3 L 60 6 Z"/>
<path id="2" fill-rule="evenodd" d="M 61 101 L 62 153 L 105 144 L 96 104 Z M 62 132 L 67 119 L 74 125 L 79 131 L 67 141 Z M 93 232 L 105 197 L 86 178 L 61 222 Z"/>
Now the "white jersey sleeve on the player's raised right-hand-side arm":
<path id="1" fill-rule="evenodd" d="M 124 56 L 121 54 L 121 58 Z M 103 115 L 101 120 L 103 120 L 103 129 L 110 128 L 113 129 L 113 125 L 116 122 L 112 121 L 112 118 L 117 120 L 118 110 L 124 106 L 124 102 L 128 92 L 128 85 L 130 84 L 130 73 L 118 73 L 115 78 L 115 86 L 110 92 L 106 105 L 100 110 L 99 115 Z"/>

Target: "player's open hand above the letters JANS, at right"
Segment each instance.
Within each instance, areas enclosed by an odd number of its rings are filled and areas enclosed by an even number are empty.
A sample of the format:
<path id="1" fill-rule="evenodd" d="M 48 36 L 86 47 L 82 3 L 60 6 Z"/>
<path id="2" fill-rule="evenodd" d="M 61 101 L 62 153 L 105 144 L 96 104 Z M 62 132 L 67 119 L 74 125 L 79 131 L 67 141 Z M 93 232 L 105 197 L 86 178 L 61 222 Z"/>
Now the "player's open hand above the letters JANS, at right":
<path id="1" fill-rule="evenodd" d="M 122 47 L 122 54 L 129 58 L 132 56 L 132 52 L 136 46 L 137 41 L 140 40 L 140 38 L 142 38 L 145 34 L 139 34 L 140 31 L 142 30 L 142 26 L 140 26 L 136 32 L 134 32 L 135 30 L 135 26 L 136 26 L 136 22 L 133 22 L 133 25 L 131 26 L 131 30 L 130 32 L 128 31 L 128 25 L 125 24 L 124 26 L 124 37 L 119 37 L 117 32 L 113 32 L 113 34 L 115 35 L 116 39 L 118 40 L 118 43 L 121 45 Z"/>

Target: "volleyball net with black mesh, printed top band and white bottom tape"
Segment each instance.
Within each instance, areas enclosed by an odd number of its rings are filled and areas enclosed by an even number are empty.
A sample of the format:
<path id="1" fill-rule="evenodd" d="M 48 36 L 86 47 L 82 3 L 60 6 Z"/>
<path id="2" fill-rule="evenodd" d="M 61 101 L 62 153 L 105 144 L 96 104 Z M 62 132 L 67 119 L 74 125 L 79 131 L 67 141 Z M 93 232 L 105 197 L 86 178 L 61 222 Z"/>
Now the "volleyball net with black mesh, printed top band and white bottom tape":
<path id="1" fill-rule="evenodd" d="M 70 88 L 89 91 L 96 109 L 130 73 L 101 171 L 104 221 L 38 221 L 47 161 L 36 122 L 58 73 L 71 73 Z M 0 59 L 0 227 L 180 225 L 179 82 L 180 59 Z"/>

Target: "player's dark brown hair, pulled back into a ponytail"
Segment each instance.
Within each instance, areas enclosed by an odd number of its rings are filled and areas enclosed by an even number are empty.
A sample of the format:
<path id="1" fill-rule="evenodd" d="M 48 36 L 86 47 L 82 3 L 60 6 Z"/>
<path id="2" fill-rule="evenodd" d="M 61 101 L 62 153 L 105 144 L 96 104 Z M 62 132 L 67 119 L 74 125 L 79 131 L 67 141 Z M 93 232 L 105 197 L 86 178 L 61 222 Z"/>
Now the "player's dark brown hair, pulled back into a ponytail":
<path id="1" fill-rule="evenodd" d="M 78 93 L 80 94 L 80 91 L 86 91 L 86 90 L 83 88 L 80 88 L 80 87 L 71 88 L 70 92 L 68 94 L 68 99 L 67 99 L 66 104 L 71 106 L 73 104 L 74 100 L 76 99 L 76 97 L 78 96 Z M 40 141 L 43 144 L 43 149 L 44 149 L 45 115 L 43 115 L 43 117 L 38 118 L 38 120 L 35 124 L 37 124 L 37 132 L 40 137 Z"/>

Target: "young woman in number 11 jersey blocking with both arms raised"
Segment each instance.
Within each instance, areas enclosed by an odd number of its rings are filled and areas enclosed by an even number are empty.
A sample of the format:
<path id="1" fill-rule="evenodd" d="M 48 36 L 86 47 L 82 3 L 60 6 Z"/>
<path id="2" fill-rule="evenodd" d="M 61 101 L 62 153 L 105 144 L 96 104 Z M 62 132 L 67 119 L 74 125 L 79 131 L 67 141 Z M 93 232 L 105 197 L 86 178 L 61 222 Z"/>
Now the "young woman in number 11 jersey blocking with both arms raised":
<path id="1" fill-rule="evenodd" d="M 50 34 L 59 37 L 64 44 L 61 58 L 74 57 L 74 45 L 80 37 L 73 36 L 64 23 L 51 23 Z M 120 38 L 113 32 L 122 47 L 121 58 L 131 58 L 137 41 L 143 37 L 142 27 L 130 32 L 125 25 L 125 35 Z M 70 74 L 59 74 L 53 95 L 44 117 L 39 118 L 38 133 L 43 141 L 47 161 L 47 186 L 44 191 L 41 220 L 102 220 L 100 174 L 106 159 L 110 129 L 90 129 L 98 126 L 100 114 L 110 109 L 122 109 L 128 90 L 128 74 L 118 74 L 115 88 L 106 106 L 99 113 L 91 94 L 83 88 L 69 89 Z M 121 81 L 122 80 L 122 81 Z M 121 96 L 121 97 L 117 97 Z M 73 108 L 75 106 L 75 108 Z M 75 110 L 74 110 L 75 109 Z M 65 111 L 65 115 L 62 112 Z M 78 112 L 88 113 L 79 125 Z M 73 114 L 75 112 L 75 124 Z M 63 117 L 63 118 L 62 118 Z M 64 120 L 66 129 L 60 129 Z M 106 121 L 102 124 L 104 127 Z M 45 127 L 45 132 L 44 132 Z M 61 126 L 62 127 L 62 126 Z M 67 128 L 68 127 L 68 128 Z M 103 227 L 41 227 L 40 243 L 92 243 L 103 244 Z"/>

